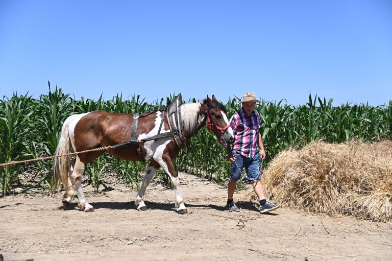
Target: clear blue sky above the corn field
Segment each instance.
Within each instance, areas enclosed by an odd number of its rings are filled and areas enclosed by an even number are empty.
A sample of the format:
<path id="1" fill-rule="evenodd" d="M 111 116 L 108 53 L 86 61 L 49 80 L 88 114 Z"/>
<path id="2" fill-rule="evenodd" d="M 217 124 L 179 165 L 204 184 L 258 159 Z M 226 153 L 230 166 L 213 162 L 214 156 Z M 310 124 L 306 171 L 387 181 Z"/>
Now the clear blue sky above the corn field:
<path id="1" fill-rule="evenodd" d="M 0 0 L 0 97 L 392 99 L 392 1 Z"/>

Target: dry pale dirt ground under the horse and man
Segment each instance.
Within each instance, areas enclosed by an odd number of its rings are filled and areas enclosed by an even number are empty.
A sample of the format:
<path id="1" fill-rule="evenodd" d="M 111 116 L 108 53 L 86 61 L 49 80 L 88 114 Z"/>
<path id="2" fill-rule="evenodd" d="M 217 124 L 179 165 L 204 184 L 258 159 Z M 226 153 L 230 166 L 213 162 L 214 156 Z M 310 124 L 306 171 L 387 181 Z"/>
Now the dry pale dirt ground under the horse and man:
<path id="1" fill-rule="evenodd" d="M 392 260 L 392 223 L 309 215 L 281 207 L 261 215 L 236 192 L 240 212 L 226 211 L 226 188 L 180 173 L 187 215 L 175 194 L 153 180 L 149 210 L 120 183 L 84 191 L 95 211 L 63 210 L 61 194 L 0 198 L 4 260 Z M 240 201 L 242 199 L 242 201 Z"/>

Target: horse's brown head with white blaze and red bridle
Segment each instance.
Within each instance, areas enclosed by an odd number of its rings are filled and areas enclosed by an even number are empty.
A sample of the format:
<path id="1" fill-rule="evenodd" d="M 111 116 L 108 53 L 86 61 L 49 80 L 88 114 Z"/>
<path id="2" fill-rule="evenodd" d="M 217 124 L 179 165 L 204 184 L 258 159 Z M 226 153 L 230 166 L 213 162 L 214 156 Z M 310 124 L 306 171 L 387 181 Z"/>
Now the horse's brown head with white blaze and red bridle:
<path id="1" fill-rule="evenodd" d="M 233 144 L 234 132 L 230 127 L 226 108 L 216 100 L 214 95 L 212 99 L 207 96 L 206 114 L 206 126 L 208 130 L 218 137 L 222 145 Z"/>

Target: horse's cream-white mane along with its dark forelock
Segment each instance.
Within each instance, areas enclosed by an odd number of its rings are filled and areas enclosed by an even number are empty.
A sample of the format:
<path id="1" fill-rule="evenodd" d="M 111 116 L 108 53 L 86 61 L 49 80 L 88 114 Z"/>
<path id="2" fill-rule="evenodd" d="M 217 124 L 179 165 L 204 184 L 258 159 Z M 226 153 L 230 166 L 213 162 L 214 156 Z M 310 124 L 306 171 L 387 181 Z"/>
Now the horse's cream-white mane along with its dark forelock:
<path id="1" fill-rule="evenodd" d="M 181 105 L 181 122 L 185 128 L 186 133 L 194 133 L 196 125 L 198 123 L 198 116 L 200 107 L 207 103 L 207 99 L 201 100 L 197 103 L 186 103 Z M 226 112 L 225 106 L 222 103 L 215 101 L 214 107 L 218 107 L 223 112 Z"/>

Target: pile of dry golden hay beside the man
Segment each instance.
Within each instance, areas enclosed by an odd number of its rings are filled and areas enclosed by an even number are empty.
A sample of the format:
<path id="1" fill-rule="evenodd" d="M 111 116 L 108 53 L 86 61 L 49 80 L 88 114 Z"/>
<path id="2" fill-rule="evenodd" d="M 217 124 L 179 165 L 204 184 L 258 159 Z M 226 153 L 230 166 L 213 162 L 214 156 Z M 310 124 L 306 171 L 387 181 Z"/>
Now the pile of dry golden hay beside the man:
<path id="1" fill-rule="evenodd" d="M 266 195 L 328 216 L 392 219 L 392 143 L 313 142 L 280 153 L 265 170 Z"/>

